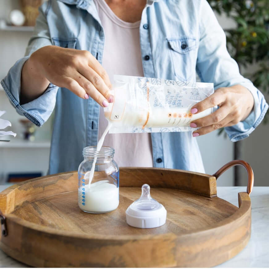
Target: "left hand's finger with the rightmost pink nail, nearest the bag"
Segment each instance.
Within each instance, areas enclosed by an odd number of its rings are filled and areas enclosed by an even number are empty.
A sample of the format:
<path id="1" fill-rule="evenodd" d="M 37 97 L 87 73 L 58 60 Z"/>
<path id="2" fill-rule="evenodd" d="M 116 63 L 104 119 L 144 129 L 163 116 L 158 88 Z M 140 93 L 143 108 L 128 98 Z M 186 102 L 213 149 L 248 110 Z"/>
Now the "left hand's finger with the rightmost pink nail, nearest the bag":
<path id="1" fill-rule="evenodd" d="M 80 68 L 79 73 L 90 81 L 94 87 L 107 99 L 109 103 L 114 101 L 114 96 L 111 95 L 110 89 L 104 80 L 90 67 Z"/>

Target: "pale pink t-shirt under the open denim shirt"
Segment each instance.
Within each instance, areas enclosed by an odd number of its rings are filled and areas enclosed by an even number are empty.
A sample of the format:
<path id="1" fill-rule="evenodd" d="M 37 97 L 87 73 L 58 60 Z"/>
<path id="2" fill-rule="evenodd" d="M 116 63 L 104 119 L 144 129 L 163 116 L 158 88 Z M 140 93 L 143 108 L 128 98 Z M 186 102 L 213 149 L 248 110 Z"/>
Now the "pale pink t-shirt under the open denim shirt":
<path id="1" fill-rule="evenodd" d="M 118 18 L 104 0 L 94 0 L 105 34 L 102 65 L 113 83 L 113 75 L 144 76 L 139 41 L 140 21 L 128 23 Z M 100 139 L 107 126 L 100 108 Z M 119 166 L 153 167 L 151 137 L 142 134 L 107 134 L 103 145 L 115 149 Z"/>

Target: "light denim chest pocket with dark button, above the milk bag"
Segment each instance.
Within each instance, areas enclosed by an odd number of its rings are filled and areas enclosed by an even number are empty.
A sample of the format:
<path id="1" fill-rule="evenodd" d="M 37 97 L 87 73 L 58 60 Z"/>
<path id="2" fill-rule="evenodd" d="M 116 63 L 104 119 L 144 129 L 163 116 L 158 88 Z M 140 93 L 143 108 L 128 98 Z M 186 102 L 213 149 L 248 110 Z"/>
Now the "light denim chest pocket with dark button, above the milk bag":
<path id="1" fill-rule="evenodd" d="M 189 81 L 195 73 L 197 42 L 195 38 L 167 39 L 176 78 Z"/>

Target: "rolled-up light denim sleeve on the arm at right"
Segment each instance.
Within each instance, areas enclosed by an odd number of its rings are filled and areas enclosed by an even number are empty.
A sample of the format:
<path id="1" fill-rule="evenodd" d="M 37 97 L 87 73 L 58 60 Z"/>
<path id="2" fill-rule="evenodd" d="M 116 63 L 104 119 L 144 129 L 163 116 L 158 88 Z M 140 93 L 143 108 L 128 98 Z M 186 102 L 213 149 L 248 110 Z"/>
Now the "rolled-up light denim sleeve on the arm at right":
<path id="1" fill-rule="evenodd" d="M 240 75 L 237 62 L 226 48 L 225 32 L 206 0 L 200 1 L 200 44 L 196 70 L 203 82 L 213 82 L 215 90 L 240 84 L 253 95 L 254 109 L 244 120 L 225 127 L 231 141 L 244 139 L 261 123 L 268 109 L 263 94 L 253 83 Z"/>

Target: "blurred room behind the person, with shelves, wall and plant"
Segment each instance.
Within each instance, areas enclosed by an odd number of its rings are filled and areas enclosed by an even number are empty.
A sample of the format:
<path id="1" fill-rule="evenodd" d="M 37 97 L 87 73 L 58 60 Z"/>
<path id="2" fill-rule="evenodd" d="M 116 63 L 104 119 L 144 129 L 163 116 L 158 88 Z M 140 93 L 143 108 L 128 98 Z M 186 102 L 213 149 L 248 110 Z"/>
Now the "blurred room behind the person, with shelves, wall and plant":
<path id="1" fill-rule="evenodd" d="M 42 0 L 0 0 L 0 80 L 10 67 L 24 56 L 28 40 Z M 269 5 L 261 1 L 211 1 L 217 19 L 225 30 L 227 47 L 238 62 L 241 74 L 250 78 L 269 101 Z M 16 11 L 17 10 L 17 11 Z M 21 11 L 21 12 L 19 12 Z M 19 116 L 11 106 L 0 85 L 1 118 L 12 123 L 17 133 L 11 142 L 0 142 L 0 185 L 12 184 L 46 175 L 53 115 L 40 128 Z M 266 116 L 267 119 L 267 116 Z M 224 132 L 215 131 L 198 137 L 206 173 L 215 173 L 223 164 L 242 159 L 254 170 L 255 186 L 269 186 L 266 168 L 269 157 L 267 142 L 269 122 L 240 142 L 232 143 Z M 10 138 L 10 137 L 9 137 Z M 217 182 L 217 186 L 246 186 L 244 168 L 230 169 Z"/>

